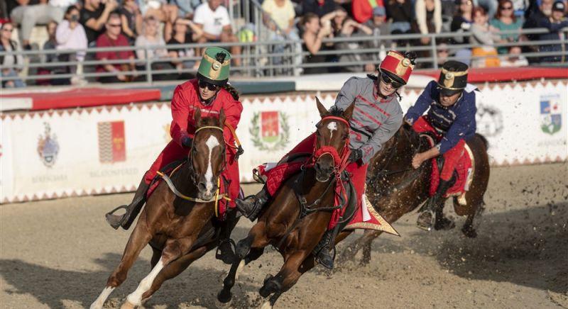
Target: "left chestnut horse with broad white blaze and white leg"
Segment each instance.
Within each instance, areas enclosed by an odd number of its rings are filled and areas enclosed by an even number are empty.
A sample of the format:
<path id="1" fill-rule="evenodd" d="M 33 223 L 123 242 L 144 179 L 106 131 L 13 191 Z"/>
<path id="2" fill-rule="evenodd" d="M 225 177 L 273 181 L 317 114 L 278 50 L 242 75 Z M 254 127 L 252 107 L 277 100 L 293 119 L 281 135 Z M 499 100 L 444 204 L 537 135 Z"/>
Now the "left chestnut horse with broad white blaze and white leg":
<path id="1" fill-rule="evenodd" d="M 153 249 L 152 270 L 121 308 L 141 306 L 165 280 L 178 276 L 193 261 L 217 247 L 219 240 L 236 225 L 236 211 L 229 211 L 223 222 L 214 218 L 217 183 L 225 167 L 224 112 L 219 113 L 219 119 L 202 119 L 197 109 L 194 118 L 197 130 L 192 150 L 171 180 L 181 195 L 197 198 L 180 198 L 165 181 L 158 185 L 138 218 L 120 264 L 91 308 L 102 308 L 148 243 Z"/>

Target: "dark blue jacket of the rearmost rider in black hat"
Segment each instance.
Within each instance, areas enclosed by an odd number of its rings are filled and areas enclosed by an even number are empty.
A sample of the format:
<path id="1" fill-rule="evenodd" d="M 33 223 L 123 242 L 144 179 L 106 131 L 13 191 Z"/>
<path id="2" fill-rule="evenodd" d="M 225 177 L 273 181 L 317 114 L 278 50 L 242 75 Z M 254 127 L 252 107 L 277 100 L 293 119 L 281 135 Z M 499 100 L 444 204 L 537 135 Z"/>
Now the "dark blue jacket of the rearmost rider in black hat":
<path id="1" fill-rule="evenodd" d="M 444 154 L 457 145 L 459 140 L 468 140 L 475 135 L 477 108 L 474 90 L 477 90 L 474 85 L 467 84 L 457 102 L 452 106 L 444 107 L 439 103 L 437 82 L 432 81 L 420 94 L 414 106 L 408 108 L 405 119 L 414 123 L 422 116 L 422 113 L 428 110 L 428 122 L 443 136 L 436 147 L 441 154 Z"/>

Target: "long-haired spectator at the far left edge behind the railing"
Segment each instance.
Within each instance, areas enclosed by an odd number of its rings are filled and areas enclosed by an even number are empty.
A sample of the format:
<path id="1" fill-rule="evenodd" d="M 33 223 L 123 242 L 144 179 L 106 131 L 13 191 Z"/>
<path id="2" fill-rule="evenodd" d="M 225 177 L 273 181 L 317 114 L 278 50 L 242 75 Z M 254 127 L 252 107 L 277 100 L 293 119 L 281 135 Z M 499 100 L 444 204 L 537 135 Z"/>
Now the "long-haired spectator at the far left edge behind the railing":
<path id="1" fill-rule="evenodd" d="M 0 28 L 0 52 L 21 52 L 18 43 L 11 40 L 13 31 L 12 23 L 3 23 Z M 20 69 L 13 68 L 14 66 L 23 65 L 23 57 L 18 55 L 0 55 L 2 88 L 19 88 L 24 87 L 26 84 L 21 79 L 4 80 L 6 77 L 18 77 Z"/>

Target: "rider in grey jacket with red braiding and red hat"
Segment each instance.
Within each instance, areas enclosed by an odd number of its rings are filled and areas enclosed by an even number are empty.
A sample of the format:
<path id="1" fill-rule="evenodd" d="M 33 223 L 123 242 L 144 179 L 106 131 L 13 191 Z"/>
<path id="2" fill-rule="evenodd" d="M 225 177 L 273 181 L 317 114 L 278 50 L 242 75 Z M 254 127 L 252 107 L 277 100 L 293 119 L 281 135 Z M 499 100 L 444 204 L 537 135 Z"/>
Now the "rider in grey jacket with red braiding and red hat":
<path id="1" fill-rule="evenodd" d="M 345 110 L 355 102 L 353 116 L 349 125 L 349 165 L 347 172 L 355 186 L 361 206 L 361 196 L 364 194 L 368 162 L 383 147 L 400 128 L 403 122 L 403 111 L 398 103 L 398 93 L 401 86 L 408 82 L 413 71 L 414 56 L 391 51 L 378 67 L 378 77 L 351 77 L 345 82 L 337 95 L 335 106 Z M 290 154 L 312 152 L 315 134 L 300 142 Z M 249 196 L 243 201 L 237 200 L 236 206 L 246 218 L 256 220 L 262 206 L 270 198 L 268 191 L 263 188 L 256 196 Z M 335 231 L 337 232 L 337 231 Z M 331 242 L 335 232 L 327 231 L 315 254 L 323 266 L 332 269 L 333 257 L 330 254 Z"/>

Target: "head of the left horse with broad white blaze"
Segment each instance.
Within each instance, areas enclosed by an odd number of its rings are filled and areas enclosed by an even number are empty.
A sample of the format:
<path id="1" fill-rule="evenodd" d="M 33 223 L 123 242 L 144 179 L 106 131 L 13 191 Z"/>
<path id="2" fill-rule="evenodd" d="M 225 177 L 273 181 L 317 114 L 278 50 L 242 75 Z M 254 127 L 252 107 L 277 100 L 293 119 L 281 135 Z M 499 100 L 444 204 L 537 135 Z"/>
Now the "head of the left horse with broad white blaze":
<path id="1" fill-rule="evenodd" d="M 193 118 L 196 129 L 189 154 L 191 177 L 197 186 L 197 197 L 210 200 L 217 191 L 219 176 L 225 167 L 225 113 L 221 110 L 219 118 L 201 118 L 201 111 L 197 108 Z"/>

